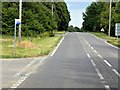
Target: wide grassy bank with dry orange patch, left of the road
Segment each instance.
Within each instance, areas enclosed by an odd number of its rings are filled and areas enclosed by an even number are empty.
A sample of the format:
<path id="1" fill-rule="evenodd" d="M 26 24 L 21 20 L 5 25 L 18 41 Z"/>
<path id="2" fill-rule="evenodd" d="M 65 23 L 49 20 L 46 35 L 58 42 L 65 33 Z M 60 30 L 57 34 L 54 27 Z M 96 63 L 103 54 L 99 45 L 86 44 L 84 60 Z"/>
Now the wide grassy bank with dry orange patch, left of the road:
<path id="1" fill-rule="evenodd" d="M 22 42 L 17 42 L 16 50 L 14 50 L 14 37 L 3 35 L 2 39 L 0 39 L 0 42 L 2 42 L 2 45 L 0 45 L 2 49 L 0 57 L 24 58 L 48 55 L 61 38 L 61 36 L 43 38 L 31 37 L 31 39 L 30 37 L 22 37 Z M 32 40 L 32 42 L 30 40 Z"/>

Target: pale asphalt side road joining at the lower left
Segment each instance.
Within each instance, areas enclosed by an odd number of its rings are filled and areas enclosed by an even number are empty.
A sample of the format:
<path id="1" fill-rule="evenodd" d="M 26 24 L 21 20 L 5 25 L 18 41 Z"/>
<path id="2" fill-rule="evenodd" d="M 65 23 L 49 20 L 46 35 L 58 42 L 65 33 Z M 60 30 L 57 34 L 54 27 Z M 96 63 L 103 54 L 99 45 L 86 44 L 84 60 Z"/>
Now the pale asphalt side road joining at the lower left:
<path id="1" fill-rule="evenodd" d="M 0 60 L 0 90 L 9 88 L 45 57 Z"/>

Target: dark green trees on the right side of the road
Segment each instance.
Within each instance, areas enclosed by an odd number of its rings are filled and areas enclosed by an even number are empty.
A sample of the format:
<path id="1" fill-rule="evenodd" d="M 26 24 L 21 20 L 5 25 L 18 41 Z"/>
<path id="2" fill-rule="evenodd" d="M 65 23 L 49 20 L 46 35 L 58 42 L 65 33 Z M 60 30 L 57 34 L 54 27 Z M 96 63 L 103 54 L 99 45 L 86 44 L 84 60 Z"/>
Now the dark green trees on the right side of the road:
<path id="1" fill-rule="evenodd" d="M 109 2 L 92 2 L 83 13 L 83 31 L 100 32 L 108 34 L 109 29 Z M 111 35 L 115 36 L 115 23 L 120 23 L 120 1 L 112 2 Z"/>

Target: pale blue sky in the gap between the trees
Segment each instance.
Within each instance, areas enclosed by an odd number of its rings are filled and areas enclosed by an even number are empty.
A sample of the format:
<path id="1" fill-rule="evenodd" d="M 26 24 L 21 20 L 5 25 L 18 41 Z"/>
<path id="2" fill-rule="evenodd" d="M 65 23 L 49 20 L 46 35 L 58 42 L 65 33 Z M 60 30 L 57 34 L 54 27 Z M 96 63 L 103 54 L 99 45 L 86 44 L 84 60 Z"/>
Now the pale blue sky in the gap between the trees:
<path id="1" fill-rule="evenodd" d="M 83 19 L 82 13 L 85 12 L 86 8 L 95 0 L 65 0 L 68 10 L 70 12 L 71 21 L 69 25 L 82 27 Z"/>

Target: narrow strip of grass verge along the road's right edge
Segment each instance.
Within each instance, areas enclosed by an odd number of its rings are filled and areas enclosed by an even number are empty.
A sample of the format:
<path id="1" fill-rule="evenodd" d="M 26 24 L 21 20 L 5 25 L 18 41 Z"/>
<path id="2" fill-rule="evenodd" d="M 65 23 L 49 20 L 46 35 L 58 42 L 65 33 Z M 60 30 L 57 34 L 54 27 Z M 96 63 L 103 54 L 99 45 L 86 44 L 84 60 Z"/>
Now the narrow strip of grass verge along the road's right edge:
<path id="1" fill-rule="evenodd" d="M 120 47 L 120 38 L 116 38 L 116 37 L 110 37 L 104 33 L 100 33 L 100 32 L 92 32 L 92 34 L 94 34 L 95 36 L 99 37 L 99 38 L 102 38 L 102 39 L 105 39 L 108 43 L 114 45 L 114 46 L 117 46 L 117 47 Z"/>

